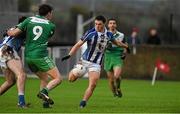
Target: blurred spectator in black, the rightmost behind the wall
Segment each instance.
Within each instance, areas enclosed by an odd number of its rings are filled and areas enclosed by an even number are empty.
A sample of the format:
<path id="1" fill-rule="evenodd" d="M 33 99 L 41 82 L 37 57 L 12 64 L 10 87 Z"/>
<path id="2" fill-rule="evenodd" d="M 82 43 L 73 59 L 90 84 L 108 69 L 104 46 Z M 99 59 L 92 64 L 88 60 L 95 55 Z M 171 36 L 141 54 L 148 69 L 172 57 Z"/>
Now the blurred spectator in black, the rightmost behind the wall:
<path id="1" fill-rule="evenodd" d="M 149 36 L 147 39 L 147 44 L 154 44 L 154 45 L 160 45 L 161 44 L 161 40 L 160 40 L 160 37 L 158 36 L 156 28 L 151 28 L 149 30 Z"/>

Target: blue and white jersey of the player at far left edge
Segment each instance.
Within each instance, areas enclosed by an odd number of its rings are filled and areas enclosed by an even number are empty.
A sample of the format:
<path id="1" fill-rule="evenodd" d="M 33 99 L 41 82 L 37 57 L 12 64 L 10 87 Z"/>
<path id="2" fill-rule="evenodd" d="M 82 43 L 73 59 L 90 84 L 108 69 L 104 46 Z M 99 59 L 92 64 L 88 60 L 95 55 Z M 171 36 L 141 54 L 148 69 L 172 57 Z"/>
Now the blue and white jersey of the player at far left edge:
<path id="1" fill-rule="evenodd" d="M 25 39 L 25 37 L 23 37 L 23 36 L 19 36 L 17 38 L 14 38 L 11 36 L 5 36 L 2 43 L 0 44 L 0 47 L 2 45 L 6 44 L 18 52 L 24 42 L 24 39 Z"/>

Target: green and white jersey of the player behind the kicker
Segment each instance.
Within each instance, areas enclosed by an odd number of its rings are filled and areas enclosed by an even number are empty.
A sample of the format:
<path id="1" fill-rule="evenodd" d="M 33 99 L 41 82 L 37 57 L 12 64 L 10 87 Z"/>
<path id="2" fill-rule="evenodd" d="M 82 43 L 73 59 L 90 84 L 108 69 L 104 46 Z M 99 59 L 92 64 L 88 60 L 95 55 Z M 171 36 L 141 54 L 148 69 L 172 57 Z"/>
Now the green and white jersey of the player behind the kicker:
<path id="1" fill-rule="evenodd" d="M 117 41 L 123 41 L 124 40 L 124 34 L 116 31 L 113 34 L 113 37 L 117 40 Z M 110 42 L 110 44 L 108 45 L 105 55 L 117 55 L 120 56 L 123 53 L 124 48 L 118 47 L 114 44 L 112 44 L 112 42 Z"/>

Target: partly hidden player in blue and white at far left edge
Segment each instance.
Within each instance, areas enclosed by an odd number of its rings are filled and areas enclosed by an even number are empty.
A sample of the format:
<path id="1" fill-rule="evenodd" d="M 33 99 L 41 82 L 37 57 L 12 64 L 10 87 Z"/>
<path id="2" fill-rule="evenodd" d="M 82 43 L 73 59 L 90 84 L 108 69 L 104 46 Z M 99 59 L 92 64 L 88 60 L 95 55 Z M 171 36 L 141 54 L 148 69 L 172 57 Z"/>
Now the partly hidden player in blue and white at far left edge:
<path id="1" fill-rule="evenodd" d="M 25 19 L 26 17 L 21 17 L 19 22 L 22 22 Z M 17 82 L 19 99 L 18 106 L 25 108 L 27 107 L 24 98 L 26 74 L 23 69 L 22 61 L 17 54 L 24 42 L 25 34 L 22 33 L 17 37 L 18 38 L 8 36 L 5 33 L 3 42 L 0 44 L 0 66 L 6 79 L 6 81 L 0 86 L 0 95 L 3 95 L 15 84 L 15 82 Z"/>

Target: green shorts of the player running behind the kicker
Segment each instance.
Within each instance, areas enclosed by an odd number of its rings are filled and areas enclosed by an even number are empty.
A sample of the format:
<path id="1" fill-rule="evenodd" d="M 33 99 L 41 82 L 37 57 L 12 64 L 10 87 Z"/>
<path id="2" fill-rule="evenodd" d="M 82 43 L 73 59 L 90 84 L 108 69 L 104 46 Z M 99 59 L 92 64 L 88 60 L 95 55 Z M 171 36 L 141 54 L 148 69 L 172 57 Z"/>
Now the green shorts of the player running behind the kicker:
<path id="1" fill-rule="evenodd" d="M 122 65 L 123 60 L 119 55 L 105 54 L 104 69 L 106 71 L 112 71 L 114 67 L 122 67 Z"/>

